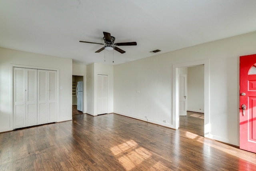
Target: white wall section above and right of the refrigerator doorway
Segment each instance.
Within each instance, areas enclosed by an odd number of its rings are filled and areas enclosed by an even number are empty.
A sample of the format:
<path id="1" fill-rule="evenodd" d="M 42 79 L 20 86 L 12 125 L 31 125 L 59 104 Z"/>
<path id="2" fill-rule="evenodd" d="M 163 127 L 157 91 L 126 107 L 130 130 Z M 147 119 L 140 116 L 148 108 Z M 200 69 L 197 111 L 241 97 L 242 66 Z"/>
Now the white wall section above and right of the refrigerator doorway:
<path id="1" fill-rule="evenodd" d="M 84 94 L 83 94 L 83 113 L 86 113 L 87 111 L 87 87 L 86 87 L 86 65 L 83 64 L 72 64 L 72 75 L 73 76 L 83 76 L 84 80 L 83 80 L 83 90 L 84 90 Z M 78 80 L 76 80 L 77 82 Z M 80 81 L 80 80 L 79 80 Z"/>

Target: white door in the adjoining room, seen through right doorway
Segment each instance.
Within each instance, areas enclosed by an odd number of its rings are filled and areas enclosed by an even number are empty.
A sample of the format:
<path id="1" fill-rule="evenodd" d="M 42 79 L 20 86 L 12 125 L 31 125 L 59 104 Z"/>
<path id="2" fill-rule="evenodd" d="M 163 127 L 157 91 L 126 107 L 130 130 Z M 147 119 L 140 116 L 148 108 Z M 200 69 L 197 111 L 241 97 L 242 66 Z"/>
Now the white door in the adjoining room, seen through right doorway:
<path id="1" fill-rule="evenodd" d="M 182 74 L 179 77 L 179 115 L 187 115 L 187 75 Z"/>

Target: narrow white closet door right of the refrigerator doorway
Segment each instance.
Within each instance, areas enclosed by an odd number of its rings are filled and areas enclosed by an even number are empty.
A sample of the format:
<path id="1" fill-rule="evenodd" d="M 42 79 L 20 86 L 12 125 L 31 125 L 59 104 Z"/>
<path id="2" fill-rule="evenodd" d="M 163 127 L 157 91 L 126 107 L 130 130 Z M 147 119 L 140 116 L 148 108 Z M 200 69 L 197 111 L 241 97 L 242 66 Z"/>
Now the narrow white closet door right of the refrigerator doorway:
<path id="1" fill-rule="evenodd" d="M 97 114 L 108 113 L 108 76 L 97 76 Z"/>

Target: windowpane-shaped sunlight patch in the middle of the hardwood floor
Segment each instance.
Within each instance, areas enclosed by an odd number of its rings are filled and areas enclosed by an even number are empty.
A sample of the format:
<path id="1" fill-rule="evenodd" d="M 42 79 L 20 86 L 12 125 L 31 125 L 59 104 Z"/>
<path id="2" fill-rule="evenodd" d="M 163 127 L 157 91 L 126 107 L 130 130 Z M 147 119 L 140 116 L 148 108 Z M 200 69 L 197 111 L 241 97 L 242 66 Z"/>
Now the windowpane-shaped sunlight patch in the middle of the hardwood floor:
<path id="1" fill-rule="evenodd" d="M 111 151 L 128 171 L 152 156 L 149 151 L 138 146 L 138 143 L 133 140 L 116 145 L 111 148 Z"/>

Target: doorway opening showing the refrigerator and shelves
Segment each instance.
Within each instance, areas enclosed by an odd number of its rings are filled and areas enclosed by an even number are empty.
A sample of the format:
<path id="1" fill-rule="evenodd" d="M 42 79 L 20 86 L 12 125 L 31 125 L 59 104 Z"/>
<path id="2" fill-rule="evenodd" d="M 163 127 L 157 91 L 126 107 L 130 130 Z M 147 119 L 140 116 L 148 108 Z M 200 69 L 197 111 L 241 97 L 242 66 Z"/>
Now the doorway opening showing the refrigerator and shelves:
<path id="1" fill-rule="evenodd" d="M 84 111 L 84 76 L 72 76 L 72 115 Z"/>

